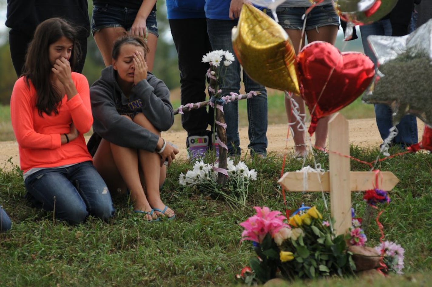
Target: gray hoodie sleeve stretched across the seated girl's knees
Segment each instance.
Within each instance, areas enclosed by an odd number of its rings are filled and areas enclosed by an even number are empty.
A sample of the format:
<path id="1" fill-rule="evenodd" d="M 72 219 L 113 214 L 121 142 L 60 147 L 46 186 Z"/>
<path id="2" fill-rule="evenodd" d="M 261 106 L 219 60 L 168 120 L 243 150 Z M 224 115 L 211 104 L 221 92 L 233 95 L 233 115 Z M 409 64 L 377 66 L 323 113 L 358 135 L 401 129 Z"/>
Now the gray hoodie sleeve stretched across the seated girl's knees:
<path id="1" fill-rule="evenodd" d="M 159 136 L 118 114 L 113 91 L 108 85 L 98 82 L 92 85 L 90 99 L 93 130 L 99 136 L 115 145 L 155 151 Z"/>

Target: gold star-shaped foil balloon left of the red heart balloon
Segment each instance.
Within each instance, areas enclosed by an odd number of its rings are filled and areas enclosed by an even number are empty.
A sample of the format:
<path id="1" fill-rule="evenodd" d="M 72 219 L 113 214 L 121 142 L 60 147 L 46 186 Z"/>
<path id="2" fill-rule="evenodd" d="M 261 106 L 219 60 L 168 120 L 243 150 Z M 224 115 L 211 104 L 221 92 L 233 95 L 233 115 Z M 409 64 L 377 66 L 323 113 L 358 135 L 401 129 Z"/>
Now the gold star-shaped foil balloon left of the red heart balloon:
<path id="1" fill-rule="evenodd" d="M 243 4 L 238 24 L 232 28 L 232 46 L 251 79 L 299 94 L 294 47 L 283 28 L 265 13 Z"/>

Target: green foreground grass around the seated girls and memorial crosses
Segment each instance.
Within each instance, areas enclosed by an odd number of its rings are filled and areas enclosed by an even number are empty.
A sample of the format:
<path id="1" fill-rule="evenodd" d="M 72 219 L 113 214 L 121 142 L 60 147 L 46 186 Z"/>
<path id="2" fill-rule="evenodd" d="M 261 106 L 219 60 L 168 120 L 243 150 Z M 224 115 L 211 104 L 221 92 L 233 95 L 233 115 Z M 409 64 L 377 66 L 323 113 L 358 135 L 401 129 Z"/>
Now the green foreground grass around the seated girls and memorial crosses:
<path id="1" fill-rule="evenodd" d="M 351 154 L 372 161 L 378 151 L 353 147 Z M 328 168 L 327 155 L 320 153 L 316 160 Z M 276 183 L 282 159 L 270 155 L 266 160 L 247 159 L 247 163 L 259 172 L 250 189 L 248 208 L 232 210 L 221 200 L 179 187 L 179 173 L 191 165 L 177 161 L 162 190 L 163 200 L 177 212 L 175 221 L 147 223 L 131 213 L 125 196 L 113 195 L 114 219 L 103 223 L 89 218 L 78 226 L 68 226 L 55 220 L 53 213 L 27 205 L 18 169 L 0 170 L 0 202 L 14 223 L 12 230 L 0 234 L 0 285 L 233 285 L 234 275 L 253 255 L 251 244 L 239 243 L 242 229 L 238 224 L 253 214 L 254 205 L 284 208 Z M 307 164 L 312 164 L 311 158 Z M 368 170 L 358 162 L 351 164 L 352 170 Z M 286 162 L 286 171 L 300 167 L 295 159 Z M 406 249 L 406 275 L 376 281 L 334 278 L 290 286 L 428 286 L 432 279 L 432 155 L 403 155 L 378 167 L 393 171 L 400 179 L 380 221 L 386 240 L 397 241 Z M 288 194 L 287 201 L 292 209 L 304 202 L 323 210 L 318 193 Z M 353 193 L 353 207 L 362 215 L 365 204 L 360 192 Z M 367 235 L 368 245 L 375 246 L 379 241 L 375 224 Z"/>

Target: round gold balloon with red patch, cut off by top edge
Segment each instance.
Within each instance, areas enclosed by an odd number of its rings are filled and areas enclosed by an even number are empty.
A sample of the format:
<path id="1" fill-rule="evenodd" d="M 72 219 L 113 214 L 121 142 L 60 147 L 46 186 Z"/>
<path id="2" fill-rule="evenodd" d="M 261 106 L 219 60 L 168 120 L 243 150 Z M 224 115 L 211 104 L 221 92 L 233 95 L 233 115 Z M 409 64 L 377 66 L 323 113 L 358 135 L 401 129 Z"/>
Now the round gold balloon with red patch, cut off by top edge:
<path id="1" fill-rule="evenodd" d="M 396 3 L 397 0 L 337 0 L 335 9 L 344 21 L 363 25 L 380 20 Z"/>

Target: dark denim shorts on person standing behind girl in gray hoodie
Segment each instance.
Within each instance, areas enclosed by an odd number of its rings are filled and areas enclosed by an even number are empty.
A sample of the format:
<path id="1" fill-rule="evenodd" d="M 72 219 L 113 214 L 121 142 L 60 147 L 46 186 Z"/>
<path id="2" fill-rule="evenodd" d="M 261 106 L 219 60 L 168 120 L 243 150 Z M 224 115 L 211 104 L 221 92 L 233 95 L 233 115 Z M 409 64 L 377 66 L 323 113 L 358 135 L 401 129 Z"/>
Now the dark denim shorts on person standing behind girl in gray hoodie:
<path id="1" fill-rule="evenodd" d="M 137 16 L 138 9 L 114 6 L 94 5 L 92 13 L 92 34 L 95 35 L 100 29 L 109 27 L 123 27 L 129 31 Z M 147 32 L 159 37 L 158 24 L 156 22 L 156 4 L 146 20 Z"/>

